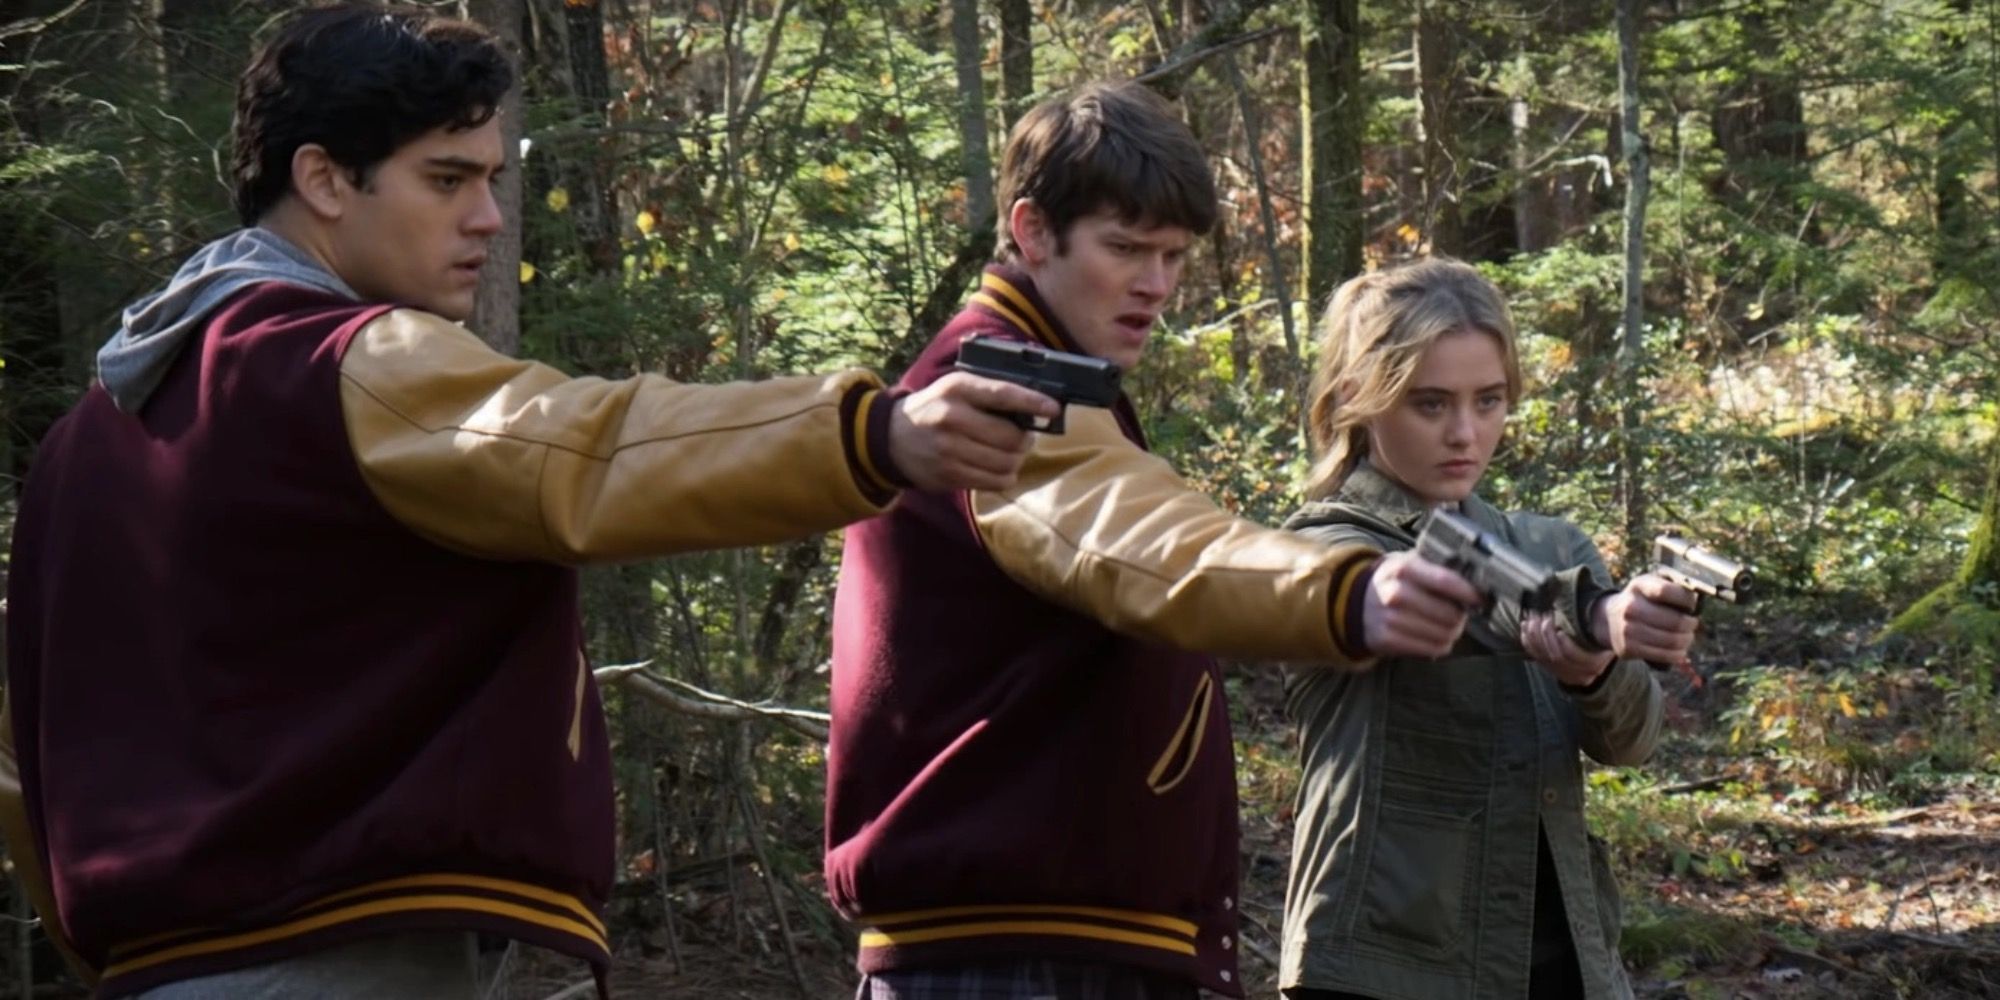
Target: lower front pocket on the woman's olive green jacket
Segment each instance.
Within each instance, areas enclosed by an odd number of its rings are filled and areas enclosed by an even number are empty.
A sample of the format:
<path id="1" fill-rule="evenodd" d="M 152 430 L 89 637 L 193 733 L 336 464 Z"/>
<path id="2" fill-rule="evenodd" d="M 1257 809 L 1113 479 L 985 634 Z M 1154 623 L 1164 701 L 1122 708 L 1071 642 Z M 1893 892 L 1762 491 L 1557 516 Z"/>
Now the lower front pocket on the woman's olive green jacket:
<path id="1" fill-rule="evenodd" d="M 1358 938 L 1424 954 L 1452 952 L 1466 934 L 1472 894 L 1472 824 L 1478 812 L 1446 814 L 1384 802 L 1362 882 Z"/>

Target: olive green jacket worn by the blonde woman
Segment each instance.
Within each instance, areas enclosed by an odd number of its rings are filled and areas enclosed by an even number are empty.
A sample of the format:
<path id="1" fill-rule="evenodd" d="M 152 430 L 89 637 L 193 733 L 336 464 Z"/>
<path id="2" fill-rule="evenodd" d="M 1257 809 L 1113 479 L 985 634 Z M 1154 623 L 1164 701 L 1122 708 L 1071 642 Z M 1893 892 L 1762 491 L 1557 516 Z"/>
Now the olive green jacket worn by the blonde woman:
<path id="1" fill-rule="evenodd" d="M 1608 588 L 1590 538 L 1476 496 L 1460 510 L 1566 570 L 1556 614 L 1582 634 L 1584 606 Z M 1288 528 L 1394 552 L 1412 546 L 1424 514 L 1364 464 Z M 1628 998 L 1618 886 L 1584 824 L 1576 752 L 1604 764 L 1652 756 L 1660 686 L 1646 664 L 1620 660 L 1592 690 L 1564 688 L 1522 652 L 1508 602 L 1466 632 L 1442 660 L 1290 672 L 1304 780 L 1280 984 L 1380 1000 L 1526 998 L 1540 824 L 1586 994 Z"/>

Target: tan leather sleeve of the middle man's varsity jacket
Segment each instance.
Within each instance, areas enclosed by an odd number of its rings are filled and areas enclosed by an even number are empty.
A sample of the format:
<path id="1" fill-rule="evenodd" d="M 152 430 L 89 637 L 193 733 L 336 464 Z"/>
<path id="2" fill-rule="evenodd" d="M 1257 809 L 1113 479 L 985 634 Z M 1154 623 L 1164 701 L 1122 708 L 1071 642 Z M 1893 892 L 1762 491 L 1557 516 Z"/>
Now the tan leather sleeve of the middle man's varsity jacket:
<path id="1" fill-rule="evenodd" d="M 1220 656 L 1352 664 L 1334 630 L 1378 552 L 1236 518 L 1118 430 L 1072 406 L 1006 492 L 974 492 L 994 562 L 1106 626 Z M 1360 648 L 1350 642 L 1350 648 Z"/>

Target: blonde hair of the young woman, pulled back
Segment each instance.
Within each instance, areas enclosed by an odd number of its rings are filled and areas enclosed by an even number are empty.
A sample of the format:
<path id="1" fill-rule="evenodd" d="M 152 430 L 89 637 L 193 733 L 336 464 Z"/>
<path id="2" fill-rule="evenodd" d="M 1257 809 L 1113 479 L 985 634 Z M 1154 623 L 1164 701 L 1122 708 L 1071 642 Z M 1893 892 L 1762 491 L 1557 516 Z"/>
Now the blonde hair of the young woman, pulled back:
<path id="1" fill-rule="evenodd" d="M 1318 458 L 1306 496 L 1340 490 L 1368 454 L 1368 422 L 1402 402 L 1444 334 L 1478 330 L 1500 342 L 1506 402 L 1520 400 L 1514 318 L 1484 274 L 1452 258 L 1426 258 L 1350 278 L 1334 290 L 1320 318 L 1320 368 L 1312 376 L 1308 428 Z"/>

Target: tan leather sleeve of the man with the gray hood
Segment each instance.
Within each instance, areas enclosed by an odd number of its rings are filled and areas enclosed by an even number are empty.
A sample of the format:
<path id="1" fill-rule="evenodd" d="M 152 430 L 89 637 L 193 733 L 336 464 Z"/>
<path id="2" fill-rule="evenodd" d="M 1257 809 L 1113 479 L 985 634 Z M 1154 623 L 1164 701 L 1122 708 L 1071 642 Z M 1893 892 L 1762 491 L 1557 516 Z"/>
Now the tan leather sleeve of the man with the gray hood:
<path id="1" fill-rule="evenodd" d="M 356 332 L 340 376 L 348 440 L 376 498 L 418 534 L 480 556 L 588 562 L 766 544 L 894 498 L 858 430 L 888 404 L 868 372 L 720 386 L 570 378 L 396 310 Z"/>

